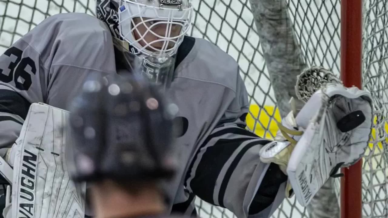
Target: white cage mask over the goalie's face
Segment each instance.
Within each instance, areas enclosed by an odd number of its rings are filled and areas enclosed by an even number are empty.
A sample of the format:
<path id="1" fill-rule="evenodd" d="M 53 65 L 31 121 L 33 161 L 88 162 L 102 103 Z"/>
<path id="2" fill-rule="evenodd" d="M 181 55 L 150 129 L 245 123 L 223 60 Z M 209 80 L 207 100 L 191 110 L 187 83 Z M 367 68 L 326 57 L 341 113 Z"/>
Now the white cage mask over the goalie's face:
<path id="1" fill-rule="evenodd" d="M 191 25 L 192 6 L 188 0 L 121 0 L 118 30 L 132 53 L 155 52 L 170 56 L 177 52 Z M 135 49 L 132 49 L 135 48 Z"/>

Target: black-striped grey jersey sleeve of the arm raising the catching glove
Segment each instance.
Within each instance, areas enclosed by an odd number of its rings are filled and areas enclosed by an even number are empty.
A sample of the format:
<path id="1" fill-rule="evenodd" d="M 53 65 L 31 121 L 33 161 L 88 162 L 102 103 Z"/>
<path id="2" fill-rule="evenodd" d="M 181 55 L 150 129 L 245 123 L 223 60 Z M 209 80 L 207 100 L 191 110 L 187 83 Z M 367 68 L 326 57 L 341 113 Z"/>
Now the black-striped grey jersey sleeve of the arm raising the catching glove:
<path id="1" fill-rule="evenodd" d="M 260 162 L 269 141 L 246 130 L 248 94 L 237 75 L 234 100 L 217 127 L 200 145 L 185 178 L 189 191 L 237 217 L 269 217 L 284 199 L 286 175 Z"/>

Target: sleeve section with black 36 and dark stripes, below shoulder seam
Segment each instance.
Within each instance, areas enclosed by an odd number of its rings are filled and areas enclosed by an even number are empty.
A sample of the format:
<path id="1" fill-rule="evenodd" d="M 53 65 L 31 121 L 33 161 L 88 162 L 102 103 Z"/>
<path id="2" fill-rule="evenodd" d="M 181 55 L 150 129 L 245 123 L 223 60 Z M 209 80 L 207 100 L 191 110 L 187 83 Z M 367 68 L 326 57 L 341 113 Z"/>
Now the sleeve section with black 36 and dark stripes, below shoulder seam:
<path id="1" fill-rule="evenodd" d="M 0 56 L 0 148 L 11 147 L 19 137 L 31 102 L 42 101 L 35 92 L 39 54 L 19 40 Z M 5 154 L 0 149 L 0 154 Z"/>

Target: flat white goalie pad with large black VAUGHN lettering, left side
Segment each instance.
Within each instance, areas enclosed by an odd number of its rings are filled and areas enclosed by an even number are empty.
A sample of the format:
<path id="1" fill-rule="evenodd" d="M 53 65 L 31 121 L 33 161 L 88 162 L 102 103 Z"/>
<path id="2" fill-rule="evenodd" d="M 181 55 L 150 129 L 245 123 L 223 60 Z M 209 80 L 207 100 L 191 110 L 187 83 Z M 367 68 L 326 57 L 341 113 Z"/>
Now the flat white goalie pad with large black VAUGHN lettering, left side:
<path id="1" fill-rule="evenodd" d="M 16 149 L 12 217 L 83 218 L 85 186 L 69 178 L 65 161 L 68 111 L 31 104 Z"/>

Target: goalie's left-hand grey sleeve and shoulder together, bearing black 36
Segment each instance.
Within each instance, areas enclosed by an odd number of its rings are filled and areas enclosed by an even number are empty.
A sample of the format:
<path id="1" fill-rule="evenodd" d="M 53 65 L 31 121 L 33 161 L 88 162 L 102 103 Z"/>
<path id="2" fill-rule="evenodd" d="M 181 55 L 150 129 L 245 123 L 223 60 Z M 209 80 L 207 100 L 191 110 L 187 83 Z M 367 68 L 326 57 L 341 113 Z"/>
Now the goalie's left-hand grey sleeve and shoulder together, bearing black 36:
<path id="1" fill-rule="evenodd" d="M 51 16 L 0 56 L 0 155 L 19 136 L 30 104 L 66 109 L 90 74 L 115 73 L 109 29 L 83 13 Z"/>

